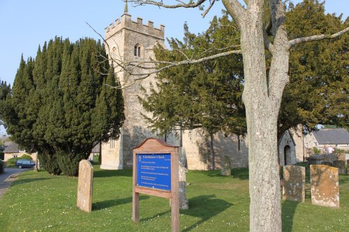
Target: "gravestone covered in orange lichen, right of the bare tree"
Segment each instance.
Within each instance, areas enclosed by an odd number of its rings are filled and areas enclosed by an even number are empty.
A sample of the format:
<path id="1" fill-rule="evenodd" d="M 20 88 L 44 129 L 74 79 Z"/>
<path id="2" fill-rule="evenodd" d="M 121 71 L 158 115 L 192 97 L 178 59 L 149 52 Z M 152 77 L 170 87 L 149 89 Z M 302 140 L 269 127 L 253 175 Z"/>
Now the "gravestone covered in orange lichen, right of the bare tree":
<path id="1" fill-rule="evenodd" d="M 326 165 L 311 165 L 311 203 L 339 208 L 338 169 Z"/>

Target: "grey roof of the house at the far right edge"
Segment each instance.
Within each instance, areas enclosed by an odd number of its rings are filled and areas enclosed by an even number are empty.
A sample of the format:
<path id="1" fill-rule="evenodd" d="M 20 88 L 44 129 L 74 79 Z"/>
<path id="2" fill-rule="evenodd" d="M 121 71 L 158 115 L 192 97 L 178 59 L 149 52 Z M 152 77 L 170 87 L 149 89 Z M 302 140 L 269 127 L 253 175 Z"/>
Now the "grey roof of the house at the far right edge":
<path id="1" fill-rule="evenodd" d="M 349 144 L 349 132 L 346 129 L 322 129 L 313 132 L 318 144 Z"/>

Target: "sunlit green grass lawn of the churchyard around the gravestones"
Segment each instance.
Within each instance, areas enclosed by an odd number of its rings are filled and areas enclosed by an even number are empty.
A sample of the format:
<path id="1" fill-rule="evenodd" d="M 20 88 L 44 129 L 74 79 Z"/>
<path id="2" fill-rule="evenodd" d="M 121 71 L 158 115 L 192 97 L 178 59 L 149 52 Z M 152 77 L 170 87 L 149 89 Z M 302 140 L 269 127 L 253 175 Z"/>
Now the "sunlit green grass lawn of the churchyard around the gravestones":
<path id="1" fill-rule="evenodd" d="M 170 231 L 168 200 L 141 195 L 140 223 L 132 215 L 132 171 L 94 166 L 92 212 L 76 208 L 77 178 L 26 171 L 0 199 L 0 231 Z M 248 231 L 248 170 L 189 171 L 189 210 L 181 231 Z M 307 176 L 309 180 L 309 173 Z M 340 176 L 341 208 L 282 201 L 283 231 L 348 231 L 349 177 Z"/>

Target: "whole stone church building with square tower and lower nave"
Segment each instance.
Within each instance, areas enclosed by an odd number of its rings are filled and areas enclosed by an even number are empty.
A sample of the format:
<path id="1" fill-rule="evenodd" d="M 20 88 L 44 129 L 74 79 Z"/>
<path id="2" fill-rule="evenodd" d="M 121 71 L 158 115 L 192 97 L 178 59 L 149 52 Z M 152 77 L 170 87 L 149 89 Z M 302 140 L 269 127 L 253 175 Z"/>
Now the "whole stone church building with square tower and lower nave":
<path id="1" fill-rule="evenodd" d="M 140 90 L 141 86 L 149 90 L 150 84 L 154 83 L 154 75 L 135 82 L 135 79 L 140 76 L 129 75 L 122 65 L 117 63 L 137 61 L 138 65 L 131 67 L 133 73 L 144 72 L 144 68 L 147 70 L 154 68 L 154 64 L 142 62 L 154 59 L 153 47 L 157 43 L 165 47 L 165 26 L 155 27 L 151 21 L 143 24 L 139 17 L 133 21 L 131 15 L 128 15 L 126 11 L 121 19 L 107 26 L 105 41 L 110 62 L 114 65 L 119 81 L 126 86 L 123 89 L 126 120 L 121 128 L 119 139 L 110 140 L 101 145 L 101 169 L 128 169 L 132 168 L 133 148 L 148 137 L 158 137 L 158 134 L 151 132 L 147 121 L 142 116 L 142 114 L 149 116 L 149 113 L 144 111 L 138 100 L 138 95 L 143 95 Z M 186 157 L 188 169 L 220 169 L 221 158 L 225 155 L 230 157 L 232 168 L 248 166 L 247 141 L 246 137 L 242 135 L 226 137 L 221 133 L 216 133 L 213 137 L 206 137 L 198 130 L 184 130 L 166 134 L 165 137 L 160 138 L 170 145 L 179 146 L 179 151 Z M 289 146 L 288 141 L 281 145 Z M 281 150 L 284 150 L 284 147 Z M 289 147 L 293 152 L 288 152 L 288 150 L 285 152 L 289 156 L 295 156 L 295 145 Z M 281 156 L 287 157 L 287 155 Z M 295 163 L 295 158 L 288 160 L 287 164 Z M 281 164 L 285 164 L 283 159 Z"/>

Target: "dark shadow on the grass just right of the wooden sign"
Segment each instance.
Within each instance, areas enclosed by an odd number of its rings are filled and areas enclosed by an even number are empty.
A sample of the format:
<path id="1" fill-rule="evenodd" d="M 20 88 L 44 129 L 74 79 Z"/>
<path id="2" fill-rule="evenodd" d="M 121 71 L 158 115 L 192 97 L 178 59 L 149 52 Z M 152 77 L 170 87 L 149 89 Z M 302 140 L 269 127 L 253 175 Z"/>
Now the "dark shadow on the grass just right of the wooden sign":
<path id="1" fill-rule="evenodd" d="M 216 199 L 216 195 L 204 195 L 195 196 L 189 199 L 189 210 L 181 210 L 184 215 L 193 217 L 199 217 L 200 221 L 184 229 L 184 231 L 190 231 L 196 228 L 196 226 L 206 222 L 211 217 L 218 215 L 219 213 L 227 210 L 232 206 L 232 203 L 228 203 L 222 199 Z"/>

